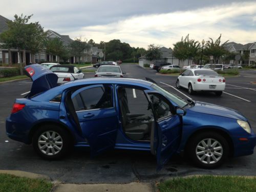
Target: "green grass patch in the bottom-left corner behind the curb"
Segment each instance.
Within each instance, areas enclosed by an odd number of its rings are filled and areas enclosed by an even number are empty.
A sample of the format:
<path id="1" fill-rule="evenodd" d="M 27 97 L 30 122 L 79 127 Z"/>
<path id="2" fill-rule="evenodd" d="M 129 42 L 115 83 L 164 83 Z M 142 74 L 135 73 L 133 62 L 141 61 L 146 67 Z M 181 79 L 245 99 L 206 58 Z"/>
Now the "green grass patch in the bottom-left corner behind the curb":
<path id="1" fill-rule="evenodd" d="M 53 184 L 44 179 L 29 179 L 8 174 L 0 174 L 0 191 L 47 191 L 49 192 Z"/>

